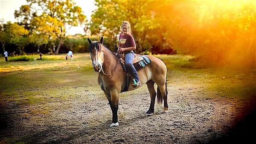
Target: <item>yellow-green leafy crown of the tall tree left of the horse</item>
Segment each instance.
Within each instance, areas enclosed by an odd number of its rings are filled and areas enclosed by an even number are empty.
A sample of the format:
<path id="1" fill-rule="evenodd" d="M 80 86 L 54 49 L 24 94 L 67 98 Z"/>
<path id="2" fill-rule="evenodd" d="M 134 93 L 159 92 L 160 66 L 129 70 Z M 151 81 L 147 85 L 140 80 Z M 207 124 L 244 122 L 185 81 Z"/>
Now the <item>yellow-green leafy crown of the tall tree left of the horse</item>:
<path id="1" fill-rule="evenodd" d="M 27 0 L 27 2 L 28 5 L 21 6 L 19 11 L 15 11 L 15 17 L 20 24 L 32 31 L 32 37 L 41 38 L 38 45 L 47 43 L 44 38 L 48 37 L 55 54 L 58 54 L 64 43 L 67 29 L 86 22 L 81 8 L 75 6 L 73 0 Z M 56 38 L 58 47 L 55 50 Z M 33 38 L 32 42 L 35 42 Z"/>

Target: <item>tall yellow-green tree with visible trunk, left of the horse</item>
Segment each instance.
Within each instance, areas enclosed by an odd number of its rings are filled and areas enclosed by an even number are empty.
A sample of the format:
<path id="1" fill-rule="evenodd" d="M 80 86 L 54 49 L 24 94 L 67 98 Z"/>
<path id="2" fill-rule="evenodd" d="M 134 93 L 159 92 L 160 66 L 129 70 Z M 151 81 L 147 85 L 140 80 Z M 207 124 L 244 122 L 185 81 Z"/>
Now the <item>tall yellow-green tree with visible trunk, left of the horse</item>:
<path id="1" fill-rule="evenodd" d="M 55 54 L 58 54 L 61 45 L 64 43 L 64 37 L 71 26 L 78 26 L 86 22 L 86 17 L 79 6 L 75 6 L 73 0 L 27 0 L 30 9 L 20 8 L 19 12 L 15 12 L 16 18 L 20 21 L 33 21 L 34 18 L 42 18 L 46 20 L 46 24 L 52 26 L 53 33 L 58 39 L 58 46 Z M 29 11 L 30 10 L 30 11 Z M 29 11 L 29 12 L 28 12 Z M 21 17 L 17 17 L 20 14 Z M 23 15 L 24 14 L 24 15 Z M 25 17 L 25 18 L 22 18 Z M 27 18 L 29 17 L 29 18 Z M 49 18 L 52 20 L 49 22 Z M 58 30 L 55 29 L 58 27 Z M 33 29 L 33 27 L 31 27 Z M 55 42 L 55 36 L 52 36 L 52 43 Z M 55 46 L 55 44 L 54 44 Z"/>

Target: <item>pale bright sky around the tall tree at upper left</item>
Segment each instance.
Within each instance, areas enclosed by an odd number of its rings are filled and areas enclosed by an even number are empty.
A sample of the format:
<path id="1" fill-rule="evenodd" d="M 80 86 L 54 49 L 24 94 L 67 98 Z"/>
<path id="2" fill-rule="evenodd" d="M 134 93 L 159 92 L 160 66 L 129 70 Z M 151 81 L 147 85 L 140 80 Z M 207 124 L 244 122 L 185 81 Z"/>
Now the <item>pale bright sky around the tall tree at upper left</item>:
<path id="1" fill-rule="evenodd" d="M 90 20 L 90 15 L 93 10 L 97 7 L 94 5 L 94 0 L 74 0 L 76 6 L 80 6 L 86 15 L 87 19 Z M 26 5 L 26 0 L 0 0 L 0 19 L 4 21 L 17 22 L 14 18 L 14 11 L 19 10 L 20 6 Z M 84 35 L 84 27 L 77 26 L 72 27 L 67 32 L 68 35 L 82 34 Z"/>

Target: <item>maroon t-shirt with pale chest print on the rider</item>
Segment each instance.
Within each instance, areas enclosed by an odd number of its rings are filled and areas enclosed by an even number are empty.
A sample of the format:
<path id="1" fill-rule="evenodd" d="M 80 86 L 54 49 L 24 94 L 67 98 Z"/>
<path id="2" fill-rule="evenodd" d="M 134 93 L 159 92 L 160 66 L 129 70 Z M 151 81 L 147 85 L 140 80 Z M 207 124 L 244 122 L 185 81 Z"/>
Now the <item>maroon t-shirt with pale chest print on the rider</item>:
<path id="1" fill-rule="evenodd" d="M 119 36 L 118 45 L 120 48 L 127 48 L 135 46 L 134 37 L 131 34 L 124 35 L 123 33 Z"/>

